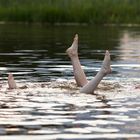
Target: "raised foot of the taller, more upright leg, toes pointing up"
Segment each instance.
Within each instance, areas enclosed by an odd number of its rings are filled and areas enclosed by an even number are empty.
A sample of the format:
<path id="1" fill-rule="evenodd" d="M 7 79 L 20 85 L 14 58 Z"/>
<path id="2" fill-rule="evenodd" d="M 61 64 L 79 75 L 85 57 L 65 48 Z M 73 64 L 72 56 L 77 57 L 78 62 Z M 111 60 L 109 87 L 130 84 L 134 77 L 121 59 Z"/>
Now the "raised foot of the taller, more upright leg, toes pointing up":
<path id="1" fill-rule="evenodd" d="M 69 57 L 78 56 L 78 34 L 75 35 L 71 47 L 66 50 Z"/>

